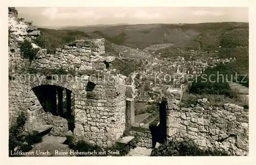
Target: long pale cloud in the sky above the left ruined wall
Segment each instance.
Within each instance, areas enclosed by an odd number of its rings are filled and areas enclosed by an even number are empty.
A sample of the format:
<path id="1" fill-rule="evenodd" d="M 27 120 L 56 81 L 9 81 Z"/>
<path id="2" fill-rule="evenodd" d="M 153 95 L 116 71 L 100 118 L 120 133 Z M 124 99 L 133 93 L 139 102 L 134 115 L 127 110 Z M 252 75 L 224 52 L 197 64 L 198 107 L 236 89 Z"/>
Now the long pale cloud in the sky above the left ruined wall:
<path id="1" fill-rule="evenodd" d="M 41 12 L 41 15 L 47 16 L 50 19 L 67 19 L 67 18 L 99 18 L 93 11 L 75 10 L 75 11 L 59 11 L 57 8 L 46 8 Z"/>

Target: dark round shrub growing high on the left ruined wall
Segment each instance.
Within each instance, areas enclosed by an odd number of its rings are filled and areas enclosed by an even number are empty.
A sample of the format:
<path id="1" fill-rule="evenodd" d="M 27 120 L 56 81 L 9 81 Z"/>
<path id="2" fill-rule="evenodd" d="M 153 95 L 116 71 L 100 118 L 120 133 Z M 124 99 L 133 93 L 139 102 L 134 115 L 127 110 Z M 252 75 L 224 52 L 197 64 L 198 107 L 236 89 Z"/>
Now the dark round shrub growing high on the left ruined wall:
<path id="1" fill-rule="evenodd" d="M 19 46 L 20 52 L 25 59 L 28 59 L 30 62 L 35 59 L 39 48 L 33 48 L 32 43 L 27 39 L 25 39 L 24 42 L 21 42 Z"/>

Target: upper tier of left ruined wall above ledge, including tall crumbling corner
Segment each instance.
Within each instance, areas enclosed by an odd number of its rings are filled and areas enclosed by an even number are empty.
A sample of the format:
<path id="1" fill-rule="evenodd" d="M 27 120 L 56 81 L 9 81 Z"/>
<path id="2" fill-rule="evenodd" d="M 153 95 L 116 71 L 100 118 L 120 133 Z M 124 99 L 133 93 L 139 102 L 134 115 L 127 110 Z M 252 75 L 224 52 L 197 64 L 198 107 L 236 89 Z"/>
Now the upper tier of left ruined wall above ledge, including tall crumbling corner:
<path id="1" fill-rule="evenodd" d="M 37 27 L 32 25 L 32 21 L 25 21 L 18 18 L 15 8 L 9 8 L 9 72 L 18 72 L 24 68 L 36 69 L 60 69 L 73 70 L 75 72 L 86 72 L 88 70 L 104 70 L 111 66 L 114 57 L 103 57 L 105 53 L 104 39 L 77 40 L 63 48 L 56 49 L 55 54 L 48 54 L 46 49 L 32 43 L 33 48 L 40 50 L 36 58 L 29 63 L 22 58 L 19 42 L 25 39 L 32 41 L 35 36 L 40 35 Z"/>

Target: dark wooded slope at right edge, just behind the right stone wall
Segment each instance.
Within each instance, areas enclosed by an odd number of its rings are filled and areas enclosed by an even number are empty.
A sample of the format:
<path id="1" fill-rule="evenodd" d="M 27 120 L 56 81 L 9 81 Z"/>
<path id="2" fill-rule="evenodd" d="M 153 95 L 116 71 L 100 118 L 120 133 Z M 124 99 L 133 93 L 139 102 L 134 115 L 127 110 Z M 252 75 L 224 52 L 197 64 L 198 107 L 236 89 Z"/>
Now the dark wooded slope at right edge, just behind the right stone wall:
<path id="1" fill-rule="evenodd" d="M 199 77 L 191 84 L 189 88 L 191 93 L 199 95 L 226 95 L 232 98 L 234 97 L 234 93 L 228 85 L 229 82 L 237 82 L 249 87 L 248 48 L 221 49 L 218 55 L 221 58 L 234 57 L 237 60 L 206 69 L 205 72 L 202 73 L 202 75 L 205 76 Z M 210 77 L 210 75 L 214 76 Z"/>

